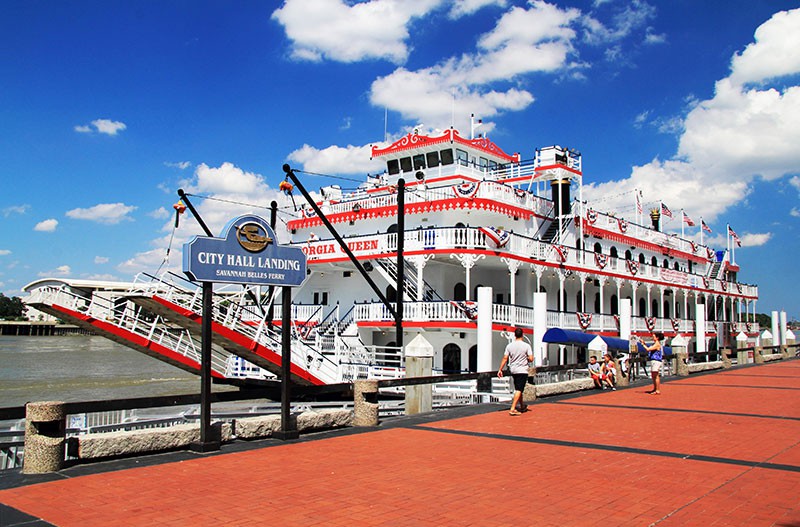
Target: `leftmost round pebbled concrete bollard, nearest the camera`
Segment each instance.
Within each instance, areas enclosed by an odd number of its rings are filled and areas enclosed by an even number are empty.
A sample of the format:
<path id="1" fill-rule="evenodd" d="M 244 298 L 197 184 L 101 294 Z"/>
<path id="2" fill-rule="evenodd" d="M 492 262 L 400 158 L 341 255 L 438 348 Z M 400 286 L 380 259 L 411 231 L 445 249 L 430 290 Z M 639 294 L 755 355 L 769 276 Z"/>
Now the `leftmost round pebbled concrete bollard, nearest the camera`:
<path id="1" fill-rule="evenodd" d="M 24 474 L 55 472 L 64 466 L 66 417 L 61 401 L 25 405 Z"/>

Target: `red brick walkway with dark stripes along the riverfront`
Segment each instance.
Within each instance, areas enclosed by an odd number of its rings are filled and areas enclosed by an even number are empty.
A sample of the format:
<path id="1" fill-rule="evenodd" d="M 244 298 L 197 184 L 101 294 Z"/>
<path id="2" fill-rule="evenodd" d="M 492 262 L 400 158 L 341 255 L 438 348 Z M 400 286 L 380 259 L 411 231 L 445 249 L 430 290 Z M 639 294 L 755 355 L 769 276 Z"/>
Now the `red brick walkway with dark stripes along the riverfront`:
<path id="1" fill-rule="evenodd" d="M 74 467 L 0 491 L 13 507 L 0 524 L 800 526 L 800 361 L 646 389 L 543 399 L 517 417 L 438 412 L 145 467 Z"/>

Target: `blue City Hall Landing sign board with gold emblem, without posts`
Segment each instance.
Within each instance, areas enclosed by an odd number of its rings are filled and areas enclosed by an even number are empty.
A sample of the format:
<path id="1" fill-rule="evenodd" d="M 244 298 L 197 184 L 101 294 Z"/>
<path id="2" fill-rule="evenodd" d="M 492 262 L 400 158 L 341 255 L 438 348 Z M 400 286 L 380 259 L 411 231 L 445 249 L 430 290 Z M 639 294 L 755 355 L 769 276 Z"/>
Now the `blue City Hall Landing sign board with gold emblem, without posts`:
<path id="1" fill-rule="evenodd" d="M 184 244 L 183 272 L 196 282 L 298 286 L 306 279 L 306 255 L 275 243 L 263 218 L 245 215 L 229 222 L 219 238 L 195 236 Z"/>

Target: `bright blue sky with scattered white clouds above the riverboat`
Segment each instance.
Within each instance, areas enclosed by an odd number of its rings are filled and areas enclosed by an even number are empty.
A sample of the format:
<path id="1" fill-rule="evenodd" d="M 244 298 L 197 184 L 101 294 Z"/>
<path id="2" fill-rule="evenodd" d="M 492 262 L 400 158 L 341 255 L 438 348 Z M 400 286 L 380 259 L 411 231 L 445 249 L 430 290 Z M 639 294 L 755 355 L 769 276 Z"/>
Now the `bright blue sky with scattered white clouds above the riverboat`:
<path id="1" fill-rule="evenodd" d="M 800 5 L 783 0 L 12 0 L 0 19 L 0 291 L 181 269 L 202 234 L 381 169 L 413 129 L 583 155 L 584 198 L 727 226 L 759 313 L 800 319 Z M 312 174 L 313 173 L 313 174 Z M 317 174 L 325 174 L 325 177 Z M 290 219 L 282 209 L 282 221 Z M 698 227 L 685 236 L 699 240 Z"/>

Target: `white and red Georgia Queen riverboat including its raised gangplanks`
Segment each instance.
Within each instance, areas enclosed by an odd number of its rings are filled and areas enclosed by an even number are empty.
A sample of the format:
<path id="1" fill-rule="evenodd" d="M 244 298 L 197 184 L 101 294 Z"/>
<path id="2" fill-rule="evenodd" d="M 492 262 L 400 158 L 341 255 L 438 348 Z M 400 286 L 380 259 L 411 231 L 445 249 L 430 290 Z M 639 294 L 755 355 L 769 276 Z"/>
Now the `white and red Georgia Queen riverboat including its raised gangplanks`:
<path id="1" fill-rule="evenodd" d="M 291 217 L 278 237 L 307 257 L 290 317 L 299 383 L 402 375 L 403 346 L 417 335 L 443 373 L 491 371 L 516 327 L 537 365 L 584 361 L 586 334 L 660 331 L 690 352 L 758 337 L 758 288 L 738 280 L 732 252 L 662 231 L 663 205 L 647 211 L 649 223 L 593 207 L 576 149 L 542 147 L 523 160 L 451 128 L 371 154 L 382 173 L 351 190 L 324 187 L 313 205 L 295 202 L 288 176 L 281 184 Z M 276 289 L 215 289 L 217 380 L 280 374 Z M 26 290 L 37 309 L 198 371 L 201 295 L 185 278 L 142 274 L 94 289 L 45 279 Z"/>

